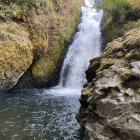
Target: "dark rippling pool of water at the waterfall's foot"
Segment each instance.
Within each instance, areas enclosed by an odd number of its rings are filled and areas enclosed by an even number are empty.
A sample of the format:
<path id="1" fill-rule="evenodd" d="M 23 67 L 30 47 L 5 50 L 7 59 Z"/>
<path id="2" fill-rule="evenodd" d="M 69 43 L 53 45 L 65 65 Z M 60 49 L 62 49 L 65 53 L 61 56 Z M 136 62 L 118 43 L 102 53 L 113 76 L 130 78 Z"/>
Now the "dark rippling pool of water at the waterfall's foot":
<path id="1" fill-rule="evenodd" d="M 75 119 L 79 96 L 66 92 L 25 90 L 0 96 L 0 140 L 80 140 Z"/>

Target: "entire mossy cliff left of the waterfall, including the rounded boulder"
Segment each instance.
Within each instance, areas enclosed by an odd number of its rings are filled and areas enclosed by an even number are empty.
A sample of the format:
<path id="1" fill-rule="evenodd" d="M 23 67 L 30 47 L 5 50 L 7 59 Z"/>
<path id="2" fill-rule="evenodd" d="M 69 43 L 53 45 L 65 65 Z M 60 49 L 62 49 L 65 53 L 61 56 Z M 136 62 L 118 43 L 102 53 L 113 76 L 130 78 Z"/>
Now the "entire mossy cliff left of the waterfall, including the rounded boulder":
<path id="1" fill-rule="evenodd" d="M 0 2 L 0 92 L 53 80 L 82 0 Z M 26 73 L 25 73 L 26 72 Z"/>

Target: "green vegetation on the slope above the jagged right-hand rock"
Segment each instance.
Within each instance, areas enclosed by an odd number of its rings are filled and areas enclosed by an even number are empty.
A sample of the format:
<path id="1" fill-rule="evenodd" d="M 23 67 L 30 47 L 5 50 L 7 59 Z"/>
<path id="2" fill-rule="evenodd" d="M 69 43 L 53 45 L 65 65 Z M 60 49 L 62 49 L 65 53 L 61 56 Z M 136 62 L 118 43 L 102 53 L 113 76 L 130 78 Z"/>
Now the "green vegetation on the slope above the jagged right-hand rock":
<path id="1" fill-rule="evenodd" d="M 140 26 L 139 0 L 102 0 L 96 5 L 104 10 L 102 32 L 104 44 Z"/>

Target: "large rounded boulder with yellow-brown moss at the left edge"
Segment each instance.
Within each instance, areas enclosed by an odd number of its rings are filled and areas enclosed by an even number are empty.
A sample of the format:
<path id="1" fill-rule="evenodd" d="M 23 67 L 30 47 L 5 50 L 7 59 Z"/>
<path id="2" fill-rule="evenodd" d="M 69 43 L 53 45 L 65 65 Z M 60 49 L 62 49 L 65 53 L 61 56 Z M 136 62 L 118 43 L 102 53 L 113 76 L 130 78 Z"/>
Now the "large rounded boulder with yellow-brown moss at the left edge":
<path id="1" fill-rule="evenodd" d="M 13 87 L 33 60 L 33 45 L 25 27 L 14 22 L 0 26 L 0 92 Z"/>

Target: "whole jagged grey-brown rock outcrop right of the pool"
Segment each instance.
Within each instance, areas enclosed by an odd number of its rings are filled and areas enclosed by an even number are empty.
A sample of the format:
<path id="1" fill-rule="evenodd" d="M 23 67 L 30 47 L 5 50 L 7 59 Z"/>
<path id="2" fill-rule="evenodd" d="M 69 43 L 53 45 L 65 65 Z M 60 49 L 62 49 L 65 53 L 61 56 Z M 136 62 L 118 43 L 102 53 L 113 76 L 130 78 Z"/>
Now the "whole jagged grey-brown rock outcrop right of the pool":
<path id="1" fill-rule="evenodd" d="M 84 140 L 140 139 L 140 28 L 109 43 L 87 70 L 77 120 Z"/>

